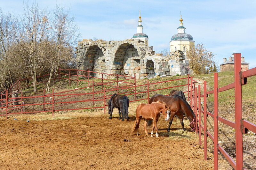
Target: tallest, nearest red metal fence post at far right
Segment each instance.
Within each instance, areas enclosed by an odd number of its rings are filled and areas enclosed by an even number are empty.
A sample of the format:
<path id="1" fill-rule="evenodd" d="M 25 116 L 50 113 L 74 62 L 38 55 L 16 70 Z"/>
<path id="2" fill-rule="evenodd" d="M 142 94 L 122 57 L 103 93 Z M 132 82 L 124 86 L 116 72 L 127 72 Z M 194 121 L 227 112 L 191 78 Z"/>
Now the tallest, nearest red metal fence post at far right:
<path id="1" fill-rule="evenodd" d="M 235 53 L 236 170 L 243 169 L 241 53 Z"/>

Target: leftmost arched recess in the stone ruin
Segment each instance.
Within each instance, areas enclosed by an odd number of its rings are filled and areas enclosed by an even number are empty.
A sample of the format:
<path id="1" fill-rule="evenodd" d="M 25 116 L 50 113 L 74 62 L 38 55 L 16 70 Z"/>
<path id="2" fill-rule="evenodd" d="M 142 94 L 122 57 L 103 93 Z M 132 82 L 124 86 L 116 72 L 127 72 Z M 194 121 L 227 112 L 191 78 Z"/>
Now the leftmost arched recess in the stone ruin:
<path id="1" fill-rule="evenodd" d="M 84 69 L 89 71 L 106 73 L 106 63 L 105 63 L 105 55 L 100 45 L 97 43 L 90 44 L 86 50 L 84 55 Z M 92 76 L 101 77 L 101 74 L 91 73 Z"/>

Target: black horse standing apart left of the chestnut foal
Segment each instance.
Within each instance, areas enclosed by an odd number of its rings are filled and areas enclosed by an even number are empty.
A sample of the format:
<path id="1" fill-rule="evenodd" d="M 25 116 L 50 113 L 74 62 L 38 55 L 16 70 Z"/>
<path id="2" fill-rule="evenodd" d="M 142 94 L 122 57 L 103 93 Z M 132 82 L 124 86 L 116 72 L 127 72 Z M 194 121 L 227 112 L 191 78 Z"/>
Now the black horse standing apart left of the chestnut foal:
<path id="1" fill-rule="evenodd" d="M 111 96 L 108 101 L 108 114 L 110 114 L 108 119 L 112 119 L 114 107 L 118 108 L 119 119 L 122 119 L 122 121 L 124 121 L 124 119 L 130 119 L 128 116 L 129 99 L 127 96 L 118 95 L 116 93 Z"/>

